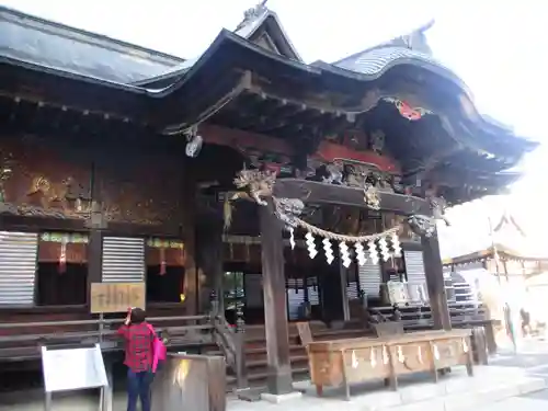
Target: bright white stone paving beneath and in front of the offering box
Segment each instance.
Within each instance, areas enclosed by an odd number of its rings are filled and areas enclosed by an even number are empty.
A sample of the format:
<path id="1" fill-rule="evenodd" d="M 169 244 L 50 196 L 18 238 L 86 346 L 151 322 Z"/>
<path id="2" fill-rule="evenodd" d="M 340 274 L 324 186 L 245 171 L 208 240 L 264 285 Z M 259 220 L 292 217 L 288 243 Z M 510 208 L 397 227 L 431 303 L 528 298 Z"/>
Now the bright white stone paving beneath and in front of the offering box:
<path id="1" fill-rule="evenodd" d="M 520 368 L 484 366 L 476 367 L 475 374 L 468 377 L 464 367 L 456 367 L 437 384 L 429 376 L 423 381 L 401 378 L 398 391 L 389 391 L 380 383 L 354 386 L 351 401 L 344 400 L 341 389 L 324 388 L 323 396 L 318 397 L 309 381 L 295 383 L 294 388 L 304 396 L 284 402 L 284 410 L 323 411 L 326 407 L 344 407 L 345 411 L 470 411 L 546 388 L 544 379 L 527 377 Z M 255 402 L 253 411 L 269 411 L 269 407 L 272 406 Z M 228 411 L 248 411 L 244 408 L 241 401 L 229 401 L 227 407 Z"/>

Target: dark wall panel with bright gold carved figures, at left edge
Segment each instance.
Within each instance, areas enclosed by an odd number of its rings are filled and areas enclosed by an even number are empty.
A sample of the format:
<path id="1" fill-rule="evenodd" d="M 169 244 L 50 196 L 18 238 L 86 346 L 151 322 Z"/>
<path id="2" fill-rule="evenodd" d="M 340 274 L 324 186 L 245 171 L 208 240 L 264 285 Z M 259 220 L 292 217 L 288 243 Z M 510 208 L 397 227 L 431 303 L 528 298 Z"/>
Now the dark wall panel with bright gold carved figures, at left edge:
<path id="1" fill-rule="evenodd" d="M 1 195 L 11 214 L 87 218 L 92 160 L 38 139 L 0 142 Z"/>

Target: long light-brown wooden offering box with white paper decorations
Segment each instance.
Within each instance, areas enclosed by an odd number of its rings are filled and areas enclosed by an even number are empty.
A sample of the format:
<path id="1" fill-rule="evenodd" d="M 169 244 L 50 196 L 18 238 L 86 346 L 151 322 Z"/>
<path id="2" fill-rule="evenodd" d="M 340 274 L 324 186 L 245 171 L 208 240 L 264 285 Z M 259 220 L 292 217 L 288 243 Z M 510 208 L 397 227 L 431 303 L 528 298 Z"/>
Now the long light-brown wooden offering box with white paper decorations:
<path id="1" fill-rule="evenodd" d="M 346 399 L 350 385 L 385 379 L 398 388 L 398 376 L 437 372 L 466 365 L 472 375 L 470 330 L 425 331 L 383 338 L 311 342 L 308 362 L 318 395 L 323 387 L 343 386 Z"/>

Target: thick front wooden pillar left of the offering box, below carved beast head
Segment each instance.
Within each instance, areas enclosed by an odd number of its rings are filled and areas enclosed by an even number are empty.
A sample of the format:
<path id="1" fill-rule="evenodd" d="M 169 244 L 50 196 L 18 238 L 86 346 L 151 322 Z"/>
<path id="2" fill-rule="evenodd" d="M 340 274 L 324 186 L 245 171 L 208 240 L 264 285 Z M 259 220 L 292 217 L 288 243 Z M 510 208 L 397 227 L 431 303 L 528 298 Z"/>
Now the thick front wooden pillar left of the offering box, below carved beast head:
<path id="1" fill-rule="evenodd" d="M 264 324 L 266 333 L 267 390 L 273 395 L 293 391 L 289 332 L 284 274 L 284 244 L 281 221 L 269 198 L 259 206 L 261 220 Z"/>

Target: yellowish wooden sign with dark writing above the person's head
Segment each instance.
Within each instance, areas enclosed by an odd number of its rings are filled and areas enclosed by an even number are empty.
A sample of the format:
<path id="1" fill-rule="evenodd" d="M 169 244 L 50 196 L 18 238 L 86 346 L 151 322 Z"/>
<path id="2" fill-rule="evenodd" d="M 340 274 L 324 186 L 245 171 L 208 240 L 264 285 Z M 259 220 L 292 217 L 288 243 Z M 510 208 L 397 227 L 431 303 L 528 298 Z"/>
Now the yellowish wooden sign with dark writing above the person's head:
<path id="1" fill-rule="evenodd" d="M 129 307 L 145 309 L 145 283 L 92 283 L 91 313 L 126 312 Z"/>

